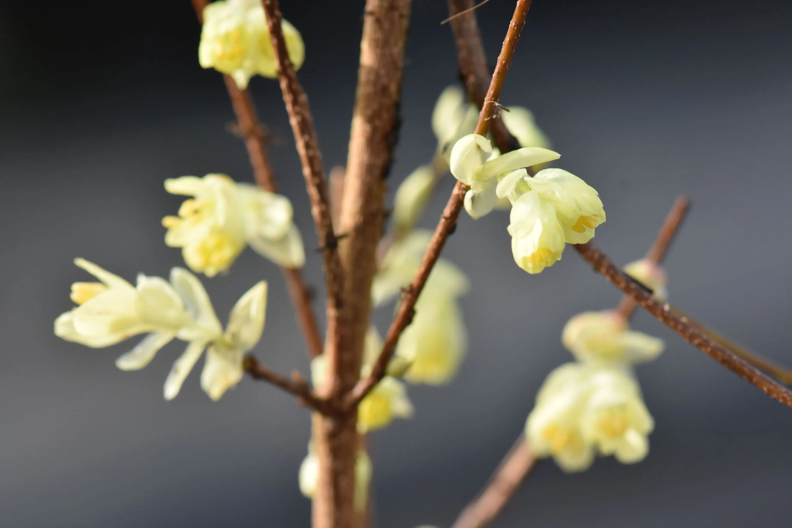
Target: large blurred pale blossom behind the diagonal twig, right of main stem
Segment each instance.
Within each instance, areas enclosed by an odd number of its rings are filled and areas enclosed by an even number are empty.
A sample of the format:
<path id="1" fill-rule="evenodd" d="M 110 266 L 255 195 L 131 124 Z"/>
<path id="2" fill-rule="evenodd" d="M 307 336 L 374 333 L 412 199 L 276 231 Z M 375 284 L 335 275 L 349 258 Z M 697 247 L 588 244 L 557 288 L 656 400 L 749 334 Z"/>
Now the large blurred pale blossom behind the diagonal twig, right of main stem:
<path id="1" fill-rule="evenodd" d="M 371 285 L 375 306 L 393 298 L 415 277 L 432 234 L 413 231 L 390 247 Z M 408 382 L 439 385 L 454 378 L 465 355 L 467 336 L 459 297 L 469 283 L 451 262 L 437 260 L 415 305 L 413 322 L 402 332 L 395 356 L 409 363 Z"/>

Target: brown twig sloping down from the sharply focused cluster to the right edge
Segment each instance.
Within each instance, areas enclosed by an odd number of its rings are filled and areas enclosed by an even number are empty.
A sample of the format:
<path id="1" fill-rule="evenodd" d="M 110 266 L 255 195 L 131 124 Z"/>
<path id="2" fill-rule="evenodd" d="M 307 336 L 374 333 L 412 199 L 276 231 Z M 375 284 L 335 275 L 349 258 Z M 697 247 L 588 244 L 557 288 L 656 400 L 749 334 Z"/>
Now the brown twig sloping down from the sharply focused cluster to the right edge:
<path id="1" fill-rule="evenodd" d="M 701 329 L 691 325 L 691 322 L 679 315 L 667 302 L 658 301 L 656 298 L 649 294 L 644 287 L 634 279 L 619 269 L 618 266 L 613 264 L 610 259 L 605 256 L 599 249 L 596 249 L 590 242 L 587 244 L 573 245 L 580 253 L 581 256 L 592 264 L 596 272 L 600 272 L 606 279 L 615 284 L 619 290 L 625 294 L 630 295 L 631 298 L 642 306 L 647 312 L 657 317 L 668 328 L 678 333 L 688 343 L 696 348 L 699 348 L 706 355 L 721 363 L 724 367 L 731 370 L 743 378 L 748 383 L 759 387 L 768 396 L 780 401 L 782 404 L 792 407 L 792 392 L 786 387 L 780 385 L 775 380 L 768 378 L 756 367 L 752 367 L 744 359 L 739 358 L 729 349 L 722 347 L 713 339 L 706 336 L 705 332 Z"/>

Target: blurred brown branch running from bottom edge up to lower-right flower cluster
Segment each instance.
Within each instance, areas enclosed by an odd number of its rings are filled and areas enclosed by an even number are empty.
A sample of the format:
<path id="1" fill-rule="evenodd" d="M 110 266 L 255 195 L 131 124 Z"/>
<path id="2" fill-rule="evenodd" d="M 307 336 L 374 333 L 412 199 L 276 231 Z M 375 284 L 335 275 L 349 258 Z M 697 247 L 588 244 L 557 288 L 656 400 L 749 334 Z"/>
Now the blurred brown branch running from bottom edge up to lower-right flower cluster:
<path id="1" fill-rule="evenodd" d="M 525 436 L 517 437 L 484 490 L 459 514 L 451 528 L 481 528 L 492 522 L 501 513 L 536 462 Z"/>

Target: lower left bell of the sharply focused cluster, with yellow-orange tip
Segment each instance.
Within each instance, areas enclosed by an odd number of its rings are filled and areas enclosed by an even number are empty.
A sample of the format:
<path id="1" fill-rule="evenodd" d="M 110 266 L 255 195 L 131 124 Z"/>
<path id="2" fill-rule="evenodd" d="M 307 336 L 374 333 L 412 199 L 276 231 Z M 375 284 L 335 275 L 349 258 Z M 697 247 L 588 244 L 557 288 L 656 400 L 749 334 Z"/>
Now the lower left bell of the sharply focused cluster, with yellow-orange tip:
<path id="1" fill-rule="evenodd" d="M 512 205 L 509 220 L 512 255 L 520 268 L 535 274 L 561 260 L 564 231 L 550 203 L 535 192 L 526 192 Z"/>

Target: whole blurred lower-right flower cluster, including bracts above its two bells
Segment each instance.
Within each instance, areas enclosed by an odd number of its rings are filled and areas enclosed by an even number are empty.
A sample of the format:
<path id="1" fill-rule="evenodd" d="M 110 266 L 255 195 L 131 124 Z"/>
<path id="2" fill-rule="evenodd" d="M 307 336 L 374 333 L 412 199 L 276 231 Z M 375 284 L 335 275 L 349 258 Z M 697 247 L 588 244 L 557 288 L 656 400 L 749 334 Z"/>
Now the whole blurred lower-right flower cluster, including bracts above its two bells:
<path id="1" fill-rule="evenodd" d="M 656 359 L 663 341 L 604 311 L 572 317 L 562 344 L 577 362 L 553 370 L 539 390 L 526 424 L 535 454 L 552 456 L 569 472 L 588 469 L 597 453 L 624 464 L 642 461 L 654 422 L 632 365 Z"/>

